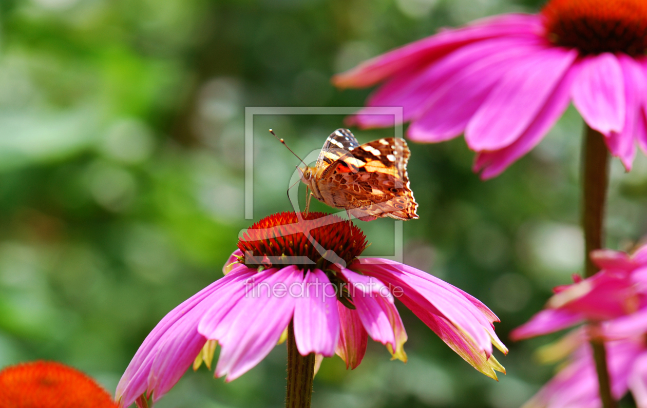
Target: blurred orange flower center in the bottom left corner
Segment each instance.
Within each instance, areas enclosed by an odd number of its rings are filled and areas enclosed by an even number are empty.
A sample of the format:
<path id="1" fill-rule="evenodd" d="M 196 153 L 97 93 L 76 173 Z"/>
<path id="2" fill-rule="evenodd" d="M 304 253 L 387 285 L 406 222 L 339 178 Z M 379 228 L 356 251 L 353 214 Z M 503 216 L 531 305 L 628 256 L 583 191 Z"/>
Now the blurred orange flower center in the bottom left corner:
<path id="1" fill-rule="evenodd" d="M 105 390 L 79 370 L 34 361 L 0 371 L 0 407 L 117 408 Z"/>

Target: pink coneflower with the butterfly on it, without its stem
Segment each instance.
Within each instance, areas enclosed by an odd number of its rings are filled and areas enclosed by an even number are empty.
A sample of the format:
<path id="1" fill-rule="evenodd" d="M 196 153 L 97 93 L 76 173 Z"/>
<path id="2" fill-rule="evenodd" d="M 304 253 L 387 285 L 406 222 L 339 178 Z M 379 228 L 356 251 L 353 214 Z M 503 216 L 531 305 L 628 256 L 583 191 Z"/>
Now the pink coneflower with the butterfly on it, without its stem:
<path id="1" fill-rule="evenodd" d="M 192 364 L 210 367 L 217 345 L 214 374 L 234 380 L 263 360 L 286 328 L 289 356 L 294 342 L 313 365 L 315 354 L 338 354 L 355 368 L 368 336 L 406 361 L 394 299 L 483 374 L 496 379 L 494 370 L 505 372 L 491 354 L 492 344 L 507 352 L 494 333 L 498 318 L 483 303 L 410 266 L 358 259 L 366 238 L 349 221 L 323 213 L 270 215 L 238 247 L 225 277 L 173 309 L 144 340 L 117 386 L 120 406 L 159 400 Z"/>

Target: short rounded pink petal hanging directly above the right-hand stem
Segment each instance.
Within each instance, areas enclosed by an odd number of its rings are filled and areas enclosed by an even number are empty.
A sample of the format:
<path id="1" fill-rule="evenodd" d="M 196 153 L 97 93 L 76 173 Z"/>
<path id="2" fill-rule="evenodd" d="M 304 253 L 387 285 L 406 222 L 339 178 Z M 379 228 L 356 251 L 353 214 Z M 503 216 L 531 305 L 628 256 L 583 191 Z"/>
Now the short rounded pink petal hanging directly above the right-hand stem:
<path id="1" fill-rule="evenodd" d="M 618 58 L 605 52 L 582 58 L 573 82 L 573 104 L 586 123 L 602 134 L 621 132 L 626 115 L 624 78 Z"/>

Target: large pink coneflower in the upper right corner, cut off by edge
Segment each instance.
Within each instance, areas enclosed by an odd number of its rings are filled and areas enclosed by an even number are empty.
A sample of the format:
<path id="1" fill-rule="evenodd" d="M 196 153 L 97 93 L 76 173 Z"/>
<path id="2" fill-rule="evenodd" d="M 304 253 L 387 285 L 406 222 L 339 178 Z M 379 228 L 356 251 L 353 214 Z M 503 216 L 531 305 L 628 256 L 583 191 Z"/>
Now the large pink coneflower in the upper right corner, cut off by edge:
<path id="1" fill-rule="evenodd" d="M 474 171 L 496 177 L 537 145 L 573 102 L 627 170 L 647 151 L 647 2 L 551 0 L 540 14 L 503 14 L 446 29 L 333 78 L 383 85 L 366 104 L 402 106 L 408 136 L 465 134 Z M 393 125 L 360 113 L 360 127 Z"/>

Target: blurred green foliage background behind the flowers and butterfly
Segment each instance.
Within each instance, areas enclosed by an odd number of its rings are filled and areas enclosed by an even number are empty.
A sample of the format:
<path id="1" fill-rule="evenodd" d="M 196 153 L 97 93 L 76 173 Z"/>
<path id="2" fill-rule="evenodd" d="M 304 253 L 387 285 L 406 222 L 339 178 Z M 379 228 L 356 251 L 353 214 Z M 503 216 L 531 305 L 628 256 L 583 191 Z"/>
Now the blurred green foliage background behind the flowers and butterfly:
<path id="1" fill-rule="evenodd" d="M 113 392 L 149 330 L 222 276 L 244 219 L 245 106 L 359 106 L 369 90 L 329 78 L 363 59 L 500 12 L 510 0 L 0 1 L 0 367 L 59 360 Z M 290 209 L 300 155 L 341 116 L 258 116 L 254 217 Z M 353 129 L 355 130 L 355 129 Z M 313 407 L 492 407 L 523 403 L 553 373 L 508 332 L 580 270 L 581 120 L 570 108 L 532 153 L 481 182 L 461 138 L 411 145 L 419 220 L 404 261 L 476 295 L 510 346 L 501 381 L 472 369 L 400 308 L 409 362 L 369 342 L 346 371 L 323 361 Z M 360 142 L 393 129 L 357 132 Z M 647 230 L 647 160 L 613 160 L 608 245 Z M 320 206 L 318 208 L 324 208 Z M 393 222 L 359 222 L 392 254 Z M 389 249 L 390 248 L 390 249 Z M 391 251 L 391 253 L 389 253 Z M 190 370 L 164 407 L 280 407 L 285 348 L 232 383 Z"/>

